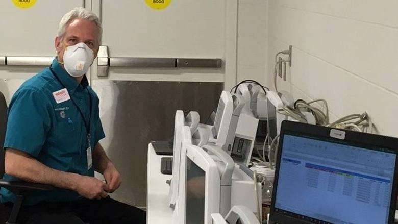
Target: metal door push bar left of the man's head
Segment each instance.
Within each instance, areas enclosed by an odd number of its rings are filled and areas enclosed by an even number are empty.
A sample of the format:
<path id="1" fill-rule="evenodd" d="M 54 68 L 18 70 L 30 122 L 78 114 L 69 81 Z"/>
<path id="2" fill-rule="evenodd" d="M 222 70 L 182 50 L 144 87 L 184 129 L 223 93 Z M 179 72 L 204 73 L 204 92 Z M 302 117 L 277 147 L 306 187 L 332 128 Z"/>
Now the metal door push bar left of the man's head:
<path id="1" fill-rule="evenodd" d="M 48 66 L 54 57 L 18 57 L 18 56 L 1 56 L 0 65 L 11 66 Z"/>

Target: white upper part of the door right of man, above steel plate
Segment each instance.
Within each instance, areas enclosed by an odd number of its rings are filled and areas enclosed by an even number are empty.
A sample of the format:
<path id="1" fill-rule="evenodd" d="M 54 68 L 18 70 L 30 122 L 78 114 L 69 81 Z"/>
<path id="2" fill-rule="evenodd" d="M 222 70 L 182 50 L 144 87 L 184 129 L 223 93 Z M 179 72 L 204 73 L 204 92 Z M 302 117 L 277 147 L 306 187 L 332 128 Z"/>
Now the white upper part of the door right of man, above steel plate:
<path id="1" fill-rule="evenodd" d="M 163 10 L 148 7 L 145 0 L 93 1 L 94 12 L 96 8 L 98 14 L 101 12 L 104 29 L 102 45 L 108 46 L 110 58 L 226 59 L 225 0 L 173 0 Z M 111 67 L 108 79 L 222 83 L 225 81 L 224 67 Z M 95 71 L 93 74 L 95 78 Z"/>

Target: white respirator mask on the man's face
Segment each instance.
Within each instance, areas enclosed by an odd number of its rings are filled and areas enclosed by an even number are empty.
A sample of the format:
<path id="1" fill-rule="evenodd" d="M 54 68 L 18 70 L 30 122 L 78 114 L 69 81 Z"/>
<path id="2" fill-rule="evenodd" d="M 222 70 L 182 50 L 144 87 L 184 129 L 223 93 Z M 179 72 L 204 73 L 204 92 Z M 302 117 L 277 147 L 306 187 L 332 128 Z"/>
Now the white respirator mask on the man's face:
<path id="1" fill-rule="evenodd" d="M 85 43 L 68 46 L 64 52 L 64 68 L 72 77 L 85 74 L 94 60 L 94 52 Z"/>

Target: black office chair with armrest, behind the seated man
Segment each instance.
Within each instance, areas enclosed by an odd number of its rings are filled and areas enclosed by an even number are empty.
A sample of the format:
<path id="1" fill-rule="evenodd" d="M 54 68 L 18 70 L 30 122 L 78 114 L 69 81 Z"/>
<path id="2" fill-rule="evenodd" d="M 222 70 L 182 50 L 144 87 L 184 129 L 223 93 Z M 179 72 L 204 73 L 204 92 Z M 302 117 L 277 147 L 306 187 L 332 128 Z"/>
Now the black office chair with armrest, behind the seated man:
<path id="1" fill-rule="evenodd" d="M 0 92 L 0 178 L 4 175 L 4 153 L 3 145 L 7 127 L 7 103 L 2 92 Z M 5 181 L 0 179 L 0 188 L 6 188 L 16 195 L 16 201 L 11 209 L 10 216 L 6 224 L 16 224 L 19 209 L 23 202 L 23 197 L 32 191 L 49 191 L 53 186 L 46 184 L 30 183 L 26 181 Z M 1 208 L 0 208 L 1 209 Z"/>

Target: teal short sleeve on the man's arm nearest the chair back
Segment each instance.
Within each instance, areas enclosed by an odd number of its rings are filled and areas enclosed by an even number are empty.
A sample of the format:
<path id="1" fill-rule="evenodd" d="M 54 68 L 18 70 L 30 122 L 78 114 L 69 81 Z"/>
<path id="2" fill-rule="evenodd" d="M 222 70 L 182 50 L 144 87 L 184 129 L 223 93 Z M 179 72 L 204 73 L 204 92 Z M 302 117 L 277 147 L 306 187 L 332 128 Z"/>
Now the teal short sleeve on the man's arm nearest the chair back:
<path id="1" fill-rule="evenodd" d="M 4 148 L 37 157 L 51 127 L 46 96 L 39 90 L 18 90 L 11 99 Z"/>

